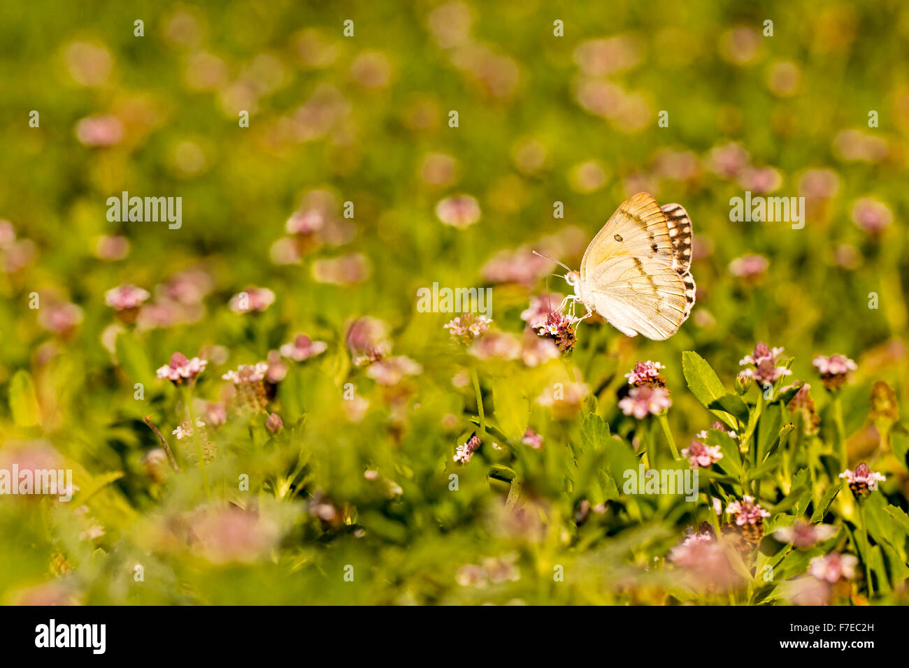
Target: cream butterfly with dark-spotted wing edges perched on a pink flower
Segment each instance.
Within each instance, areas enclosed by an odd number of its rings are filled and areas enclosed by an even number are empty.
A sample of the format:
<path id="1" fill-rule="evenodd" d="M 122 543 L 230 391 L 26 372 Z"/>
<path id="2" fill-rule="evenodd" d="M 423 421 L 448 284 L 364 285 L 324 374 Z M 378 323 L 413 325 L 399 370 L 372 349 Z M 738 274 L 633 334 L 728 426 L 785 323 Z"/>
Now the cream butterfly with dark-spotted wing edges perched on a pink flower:
<path id="1" fill-rule="evenodd" d="M 581 270 L 564 275 L 574 287 L 566 300 L 581 302 L 584 317 L 600 314 L 627 336 L 668 339 L 694 306 L 691 241 L 691 218 L 682 206 L 635 194 L 594 236 Z"/>

